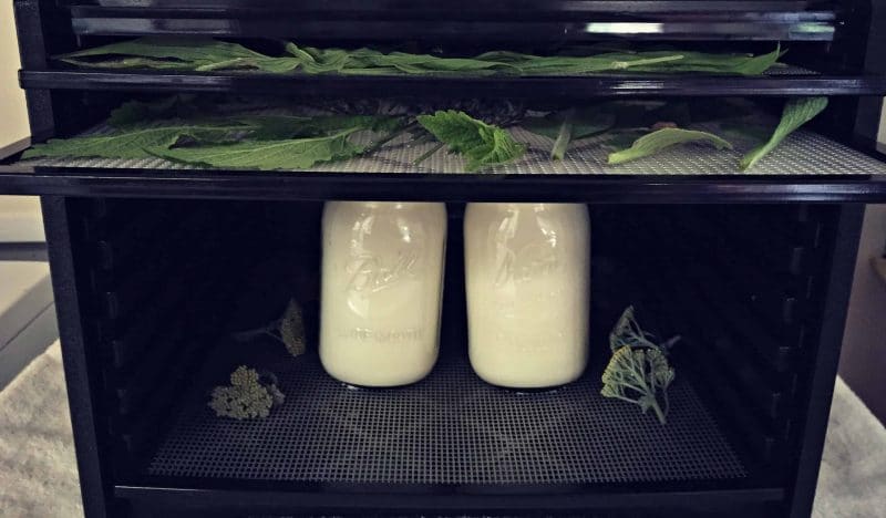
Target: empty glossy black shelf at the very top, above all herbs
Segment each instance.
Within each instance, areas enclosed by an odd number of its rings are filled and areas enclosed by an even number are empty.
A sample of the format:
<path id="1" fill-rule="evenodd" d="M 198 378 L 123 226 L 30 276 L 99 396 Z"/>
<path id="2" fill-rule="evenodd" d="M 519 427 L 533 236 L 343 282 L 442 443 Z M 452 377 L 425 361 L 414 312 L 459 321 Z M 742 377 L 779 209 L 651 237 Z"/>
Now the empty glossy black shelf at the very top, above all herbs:
<path id="1" fill-rule="evenodd" d="M 831 41 L 833 6 L 803 1 L 64 2 L 82 35 L 207 34 L 374 40 L 577 42 L 745 39 Z M 282 14 L 282 15 L 281 15 Z"/>

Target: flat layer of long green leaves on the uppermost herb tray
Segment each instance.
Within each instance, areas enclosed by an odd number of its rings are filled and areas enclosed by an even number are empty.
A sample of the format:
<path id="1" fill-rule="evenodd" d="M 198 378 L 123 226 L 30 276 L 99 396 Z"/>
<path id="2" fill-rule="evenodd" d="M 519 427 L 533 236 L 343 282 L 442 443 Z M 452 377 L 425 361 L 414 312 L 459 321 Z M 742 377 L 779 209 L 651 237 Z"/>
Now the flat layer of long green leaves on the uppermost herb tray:
<path id="1" fill-rule="evenodd" d="M 600 73 L 704 73 L 759 75 L 775 66 L 781 49 L 761 55 L 678 49 L 600 51 L 584 55 L 533 55 L 493 51 L 471 58 L 381 52 L 373 49 L 317 49 L 284 43 L 267 55 L 238 43 L 206 38 L 141 38 L 58 56 L 76 66 L 159 69 L 196 72 L 258 71 L 272 74 L 347 75 L 580 75 Z"/>

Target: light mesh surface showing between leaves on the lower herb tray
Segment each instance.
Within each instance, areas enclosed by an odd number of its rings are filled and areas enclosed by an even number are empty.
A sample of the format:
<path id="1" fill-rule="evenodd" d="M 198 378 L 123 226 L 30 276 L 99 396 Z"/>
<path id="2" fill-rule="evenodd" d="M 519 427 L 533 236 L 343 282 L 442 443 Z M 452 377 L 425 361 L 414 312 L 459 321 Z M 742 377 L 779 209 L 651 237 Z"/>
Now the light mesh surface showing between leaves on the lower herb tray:
<path id="1" fill-rule="evenodd" d="M 485 169 L 487 174 L 516 175 L 724 175 L 738 174 L 741 157 L 760 142 L 738 133 L 723 134 L 711 125 L 693 128 L 712 131 L 724 135 L 733 149 L 690 144 L 674 146 L 656 155 L 635 162 L 611 166 L 607 164 L 610 148 L 606 146 L 611 136 L 591 137 L 574 142 L 563 160 L 550 160 L 553 141 L 522 127 L 511 128 L 514 137 L 527 145 L 526 154 L 517 162 Z M 99 126 L 86 135 L 111 132 Z M 369 144 L 379 135 L 362 133 L 354 142 Z M 344 162 L 319 164 L 307 172 L 365 173 L 365 174 L 459 174 L 464 172 L 464 159 L 447 154 L 445 149 L 434 153 L 420 165 L 413 163 L 436 146 L 434 142 L 418 142 L 409 136 L 398 138 L 378 152 Z M 22 165 L 54 167 L 147 168 L 147 169 L 198 169 L 175 164 L 162 158 L 113 159 L 113 158 L 37 158 L 22 160 Z M 746 175 L 878 175 L 886 174 L 886 163 L 836 143 L 810 131 L 797 131 L 777 148 L 758 163 Z"/>

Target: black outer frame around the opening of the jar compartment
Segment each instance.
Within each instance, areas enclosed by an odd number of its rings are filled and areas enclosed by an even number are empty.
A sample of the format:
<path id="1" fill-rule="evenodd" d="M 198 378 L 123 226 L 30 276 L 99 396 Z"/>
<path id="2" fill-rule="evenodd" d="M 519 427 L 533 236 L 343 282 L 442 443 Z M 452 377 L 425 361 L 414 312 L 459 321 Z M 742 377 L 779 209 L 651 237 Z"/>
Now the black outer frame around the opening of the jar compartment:
<path id="1" fill-rule="evenodd" d="M 253 199 L 266 199 L 256 196 Z M 800 393 L 802 423 L 795 460 L 791 462 L 792 480 L 784 488 L 746 487 L 730 484 L 652 485 L 610 487 L 576 485 L 552 493 L 550 488 L 509 487 L 501 491 L 468 486 L 432 486 L 410 490 L 405 487 L 389 491 L 373 485 L 340 484 L 262 484 L 249 489 L 240 484 L 213 481 L 206 487 L 156 480 L 150 484 L 122 483 L 122 474 L 110 468 L 112 441 L 101 426 L 102 403 L 97 375 L 99 362 L 94 346 L 89 345 L 91 322 L 95 311 L 90 302 L 86 272 L 91 268 L 91 253 L 84 249 L 80 236 L 86 214 L 75 207 L 73 198 L 44 196 L 44 220 L 49 241 L 49 256 L 53 288 L 59 304 L 60 333 L 64 343 L 64 363 L 69 385 L 69 400 L 75 429 L 75 444 L 86 516 L 126 516 L 124 500 L 133 508 L 171 509 L 179 511 L 241 511 L 292 512 L 299 511 L 354 511 L 383 509 L 388 511 L 587 511 L 655 509 L 679 506 L 692 501 L 698 509 L 723 509 L 724 506 L 777 505 L 787 498 L 784 516 L 807 516 L 817 480 L 824 434 L 830 411 L 830 395 L 836 374 L 842 330 L 848 301 L 849 283 L 855 263 L 862 224 L 862 205 L 843 205 L 835 217 L 825 221 L 822 239 L 830 259 L 824 266 L 827 288 L 818 300 L 821 328 L 817 348 L 807 355 L 808 364 L 801 370 L 803 379 Z M 656 200 L 660 203 L 660 200 Z M 274 488 L 276 486 L 276 489 Z M 692 486 L 692 485 L 690 485 Z M 516 491 L 516 494 L 515 494 Z M 121 507 L 123 506 L 123 507 Z M 148 515 L 151 516 L 151 515 Z"/>

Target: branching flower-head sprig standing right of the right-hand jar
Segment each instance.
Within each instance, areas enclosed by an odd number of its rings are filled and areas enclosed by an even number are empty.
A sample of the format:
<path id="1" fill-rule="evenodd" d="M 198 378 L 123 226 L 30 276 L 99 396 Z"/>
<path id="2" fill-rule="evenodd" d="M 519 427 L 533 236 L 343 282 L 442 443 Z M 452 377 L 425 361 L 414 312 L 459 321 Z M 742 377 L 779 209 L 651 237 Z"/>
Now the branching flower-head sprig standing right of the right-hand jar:
<path id="1" fill-rule="evenodd" d="M 655 412 L 659 423 L 666 424 L 670 403 L 668 387 L 673 382 L 674 370 L 668 363 L 668 350 L 680 336 L 662 344 L 650 339 L 628 307 L 609 334 L 612 358 L 602 373 L 604 397 L 636 404 L 646 413 Z"/>

